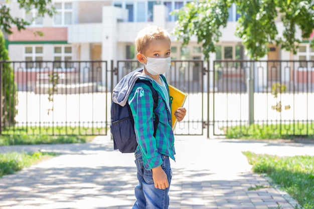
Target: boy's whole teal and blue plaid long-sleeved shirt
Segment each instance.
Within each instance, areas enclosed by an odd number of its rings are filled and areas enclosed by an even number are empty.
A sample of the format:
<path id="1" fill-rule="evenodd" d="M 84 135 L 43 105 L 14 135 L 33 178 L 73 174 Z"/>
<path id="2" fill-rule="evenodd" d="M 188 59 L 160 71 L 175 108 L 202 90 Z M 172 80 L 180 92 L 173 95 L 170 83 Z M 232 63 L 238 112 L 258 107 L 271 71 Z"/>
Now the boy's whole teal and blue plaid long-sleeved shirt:
<path id="1" fill-rule="evenodd" d="M 166 79 L 164 81 L 168 86 Z M 153 136 L 153 98 L 150 88 L 145 84 L 135 83 L 128 97 L 138 143 L 136 151 L 140 149 L 142 152 L 143 165 L 147 170 L 162 164 L 161 154 L 168 155 L 175 160 L 175 138 L 172 130 L 171 110 L 168 109 L 166 100 L 163 98 L 163 92 L 158 85 L 152 82 L 152 87 L 158 92 L 159 96 L 156 108 L 156 113 L 159 115 L 159 124 L 155 137 Z"/>

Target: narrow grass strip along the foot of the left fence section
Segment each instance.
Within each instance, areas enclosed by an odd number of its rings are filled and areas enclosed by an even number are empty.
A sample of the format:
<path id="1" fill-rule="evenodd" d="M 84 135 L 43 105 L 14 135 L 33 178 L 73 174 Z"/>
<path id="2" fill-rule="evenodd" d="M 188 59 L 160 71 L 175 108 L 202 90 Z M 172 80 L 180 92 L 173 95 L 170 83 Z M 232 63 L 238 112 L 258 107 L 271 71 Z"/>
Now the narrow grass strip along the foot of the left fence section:
<path id="1" fill-rule="evenodd" d="M 1 135 L 0 146 L 7 145 L 27 145 L 27 144 L 70 144 L 85 143 L 86 137 L 78 135 L 50 136 L 45 134 L 16 134 Z"/>

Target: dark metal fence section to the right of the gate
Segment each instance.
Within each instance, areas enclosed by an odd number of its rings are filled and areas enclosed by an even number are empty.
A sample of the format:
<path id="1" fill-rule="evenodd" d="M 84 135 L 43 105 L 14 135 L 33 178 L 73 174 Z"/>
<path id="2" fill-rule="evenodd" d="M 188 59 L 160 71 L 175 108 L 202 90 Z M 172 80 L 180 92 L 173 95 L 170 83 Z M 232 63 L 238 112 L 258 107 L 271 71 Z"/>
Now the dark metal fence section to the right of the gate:
<path id="1" fill-rule="evenodd" d="M 214 61 L 213 69 L 213 135 L 232 127 L 238 136 L 266 128 L 314 136 L 314 61 Z"/>

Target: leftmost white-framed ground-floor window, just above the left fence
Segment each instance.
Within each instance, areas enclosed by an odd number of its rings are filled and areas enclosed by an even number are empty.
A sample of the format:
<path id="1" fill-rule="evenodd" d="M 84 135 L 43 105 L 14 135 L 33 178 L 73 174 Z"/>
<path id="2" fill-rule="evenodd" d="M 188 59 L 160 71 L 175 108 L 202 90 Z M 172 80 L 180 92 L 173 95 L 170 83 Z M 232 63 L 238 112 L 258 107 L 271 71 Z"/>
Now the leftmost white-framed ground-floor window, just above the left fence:
<path id="1" fill-rule="evenodd" d="M 27 46 L 24 50 L 24 59 L 27 61 L 26 68 L 42 68 L 42 62 L 43 61 L 43 47 L 42 46 Z M 39 61 L 39 62 L 34 62 Z"/>

